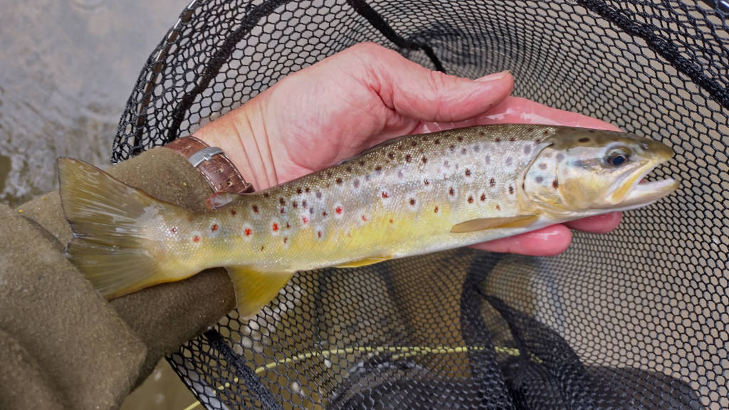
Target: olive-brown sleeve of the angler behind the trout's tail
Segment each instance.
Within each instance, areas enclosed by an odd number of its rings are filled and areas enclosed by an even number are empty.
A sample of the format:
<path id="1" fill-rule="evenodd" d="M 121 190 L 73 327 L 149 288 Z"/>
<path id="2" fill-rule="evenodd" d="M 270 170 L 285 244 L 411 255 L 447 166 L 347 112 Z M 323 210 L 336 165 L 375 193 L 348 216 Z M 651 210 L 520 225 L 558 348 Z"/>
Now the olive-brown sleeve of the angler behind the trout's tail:
<path id="1" fill-rule="evenodd" d="M 212 193 L 182 155 L 155 148 L 106 171 L 204 209 Z M 0 409 L 116 409 L 160 357 L 235 306 L 222 268 L 107 302 L 63 256 L 58 192 L 0 205 Z"/>

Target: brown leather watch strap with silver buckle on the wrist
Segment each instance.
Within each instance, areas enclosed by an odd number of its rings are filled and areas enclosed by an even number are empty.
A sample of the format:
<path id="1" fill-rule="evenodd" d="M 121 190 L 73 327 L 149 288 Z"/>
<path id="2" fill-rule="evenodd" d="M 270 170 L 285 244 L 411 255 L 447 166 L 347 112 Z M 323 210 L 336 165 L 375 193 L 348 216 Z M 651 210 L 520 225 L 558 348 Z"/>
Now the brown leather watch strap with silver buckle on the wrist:
<path id="1" fill-rule="evenodd" d="M 252 193 L 253 185 L 246 182 L 225 152 L 209 147 L 194 136 L 182 136 L 165 145 L 187 158 L 216 193 Z"/>

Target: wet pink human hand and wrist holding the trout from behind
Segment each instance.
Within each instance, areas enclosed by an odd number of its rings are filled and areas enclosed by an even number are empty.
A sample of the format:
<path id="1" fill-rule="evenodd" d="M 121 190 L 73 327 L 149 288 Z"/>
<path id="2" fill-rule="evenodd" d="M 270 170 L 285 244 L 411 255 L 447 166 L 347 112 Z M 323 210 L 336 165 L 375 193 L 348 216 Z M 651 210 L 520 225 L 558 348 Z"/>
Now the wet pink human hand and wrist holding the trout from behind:
<path id="1" fill-rule="evenodd" d="M 406 134 L 494 123 L 617 130 L 594 118 L 509 97 L 512 88 L 507 72 L 477 80 L 448 76 L 364 43 L 285 77 L 195 136 L 225 150 L 246 181 L 262 190 Z M 613 212 L 474 247 L 555 255 L 569 246 L 569 228 L 605 233 L 618 223 L 620 212 Z"/>

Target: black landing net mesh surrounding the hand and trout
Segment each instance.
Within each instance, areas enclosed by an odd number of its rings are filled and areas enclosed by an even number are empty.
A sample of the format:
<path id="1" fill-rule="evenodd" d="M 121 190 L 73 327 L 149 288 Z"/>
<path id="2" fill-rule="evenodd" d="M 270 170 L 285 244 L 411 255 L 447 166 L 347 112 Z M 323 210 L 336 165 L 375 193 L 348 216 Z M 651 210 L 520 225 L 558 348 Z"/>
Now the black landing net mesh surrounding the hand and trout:
<path id="1" fill-rule="evenodd" d="M 678 195 L 554 258 L 453 250 L 297 274 L 169 360 L 208 409 L 727 409 L 729 7 L 709 1 L 199 1 L 113 160 L 357 42 L 651 136 Z"/>

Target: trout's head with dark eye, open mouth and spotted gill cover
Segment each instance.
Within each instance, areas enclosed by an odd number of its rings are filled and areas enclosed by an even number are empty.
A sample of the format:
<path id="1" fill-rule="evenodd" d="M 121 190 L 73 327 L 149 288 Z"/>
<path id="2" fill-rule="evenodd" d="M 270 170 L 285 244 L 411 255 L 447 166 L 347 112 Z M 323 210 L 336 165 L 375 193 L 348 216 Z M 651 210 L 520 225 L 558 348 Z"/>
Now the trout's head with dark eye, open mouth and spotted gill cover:
<path id="1" fill-rule="evenodd" d="M 526 198 L 558 214 L 633 209 L 676 190 L 674 179 L 644 177 L 674 155 L 660 142 L 634 134 L 558 128 L 524 174 Z"/>

